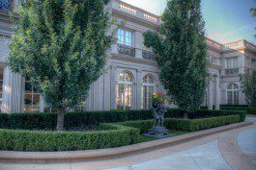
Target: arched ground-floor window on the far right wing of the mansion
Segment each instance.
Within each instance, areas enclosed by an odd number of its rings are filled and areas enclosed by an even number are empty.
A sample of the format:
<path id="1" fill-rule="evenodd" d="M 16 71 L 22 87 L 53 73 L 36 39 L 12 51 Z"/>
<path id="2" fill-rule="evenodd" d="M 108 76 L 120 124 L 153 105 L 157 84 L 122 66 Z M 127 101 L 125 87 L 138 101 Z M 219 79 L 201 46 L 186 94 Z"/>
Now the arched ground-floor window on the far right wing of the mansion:
<path id="1" fill-rule="evenodd" d="M 239 105 L 239 85 L 230 84 L 227 88 L 228 105 Z"/>

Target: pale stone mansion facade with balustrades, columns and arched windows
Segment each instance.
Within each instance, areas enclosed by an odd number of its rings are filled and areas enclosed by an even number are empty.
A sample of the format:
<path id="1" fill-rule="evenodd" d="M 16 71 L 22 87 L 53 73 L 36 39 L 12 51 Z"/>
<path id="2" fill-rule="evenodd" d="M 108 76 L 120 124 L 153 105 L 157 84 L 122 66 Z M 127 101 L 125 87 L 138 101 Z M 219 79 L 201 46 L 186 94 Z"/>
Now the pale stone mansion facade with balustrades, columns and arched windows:
<path id="1" fill-rule="evenodd" d="M 18 4 L 17 0 L 14 2 Z M 112 0 L 105 9 L 118 23 L 124 22 L 124 26 L 118 30 L 116 43 L 108 52 L 104 73 L 91 86 L 86 103 L 77 109 L 149 109 L 151 94 L 165 90 L 158 78 L 154 54 L 143 46 L 142 34 L 147 30 L 156 31 L 160 17 L 120 0 Z M 1 111 L 42 112 L 47 109 L 43 97 L 6 64 L 12 34 L 8 10 L 0 9 Z M 209 86 L 202 106 L 219 109 L 223 104 L 246 104 L 239 75 L 256 68 L 256 46 L 245 40 L 220 44 L 209 38 L 207 44 Z"/>

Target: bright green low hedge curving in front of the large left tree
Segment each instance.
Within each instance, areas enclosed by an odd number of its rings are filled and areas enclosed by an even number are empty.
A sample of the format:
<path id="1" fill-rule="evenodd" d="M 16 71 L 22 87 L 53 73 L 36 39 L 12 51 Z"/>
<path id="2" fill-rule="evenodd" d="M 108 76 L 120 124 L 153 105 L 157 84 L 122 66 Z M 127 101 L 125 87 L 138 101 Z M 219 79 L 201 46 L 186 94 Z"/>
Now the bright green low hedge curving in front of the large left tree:
<path id="1" fill-rule="evenodd" d="M 0 150 L 49 152 L 113 148 L 137 142 L 139 130 L 100 124 L 99 132 L 0 130 Z M 107 131 L 106 131 L 107 130 Z"/>

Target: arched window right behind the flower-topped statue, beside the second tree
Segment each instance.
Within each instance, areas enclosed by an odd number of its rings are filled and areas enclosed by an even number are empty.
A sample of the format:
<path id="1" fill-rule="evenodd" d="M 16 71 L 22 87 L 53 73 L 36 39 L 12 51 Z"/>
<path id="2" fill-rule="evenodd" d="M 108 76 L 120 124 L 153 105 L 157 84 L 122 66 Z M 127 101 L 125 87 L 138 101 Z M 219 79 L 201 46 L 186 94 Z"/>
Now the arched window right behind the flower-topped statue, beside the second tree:
<path id="1" fill-rule="evenodd" d="M 142 109 L 151 109 L 152 107 L 152 95 L 155 90 L 155 81 L 152 75 L 147 75 L 142 80 Z"/>

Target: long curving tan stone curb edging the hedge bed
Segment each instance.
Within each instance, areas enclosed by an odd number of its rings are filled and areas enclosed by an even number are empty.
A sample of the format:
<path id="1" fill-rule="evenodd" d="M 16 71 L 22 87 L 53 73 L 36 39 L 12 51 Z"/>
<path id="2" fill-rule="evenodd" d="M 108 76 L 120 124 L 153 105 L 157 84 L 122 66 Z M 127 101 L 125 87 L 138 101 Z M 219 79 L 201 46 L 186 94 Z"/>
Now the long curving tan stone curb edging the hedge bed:
<path id="1" fill-rule="evenodd" d="M 223 127 L 213 128 L 200 132 L 178 135 L 170 138 L 159 139 L 150 142 L 144 142 L 119 148 L 109 148 L 88 151 L 71 151 L 71 152 L 14 152 L 0 151 L 0 162 L 12 163 L 56 163 L 56 162 L 78 162 L 89 160 L 102 160 L 112 158 L 123 158 L 138 153 L 145 153 L 164 147 L 169 147 L 193 139 L 218 134 L 245 126 L 252 125 L 253 122 L 241 122 Z"/>

